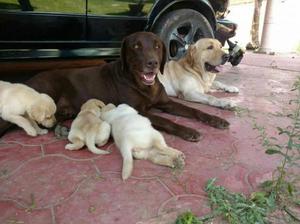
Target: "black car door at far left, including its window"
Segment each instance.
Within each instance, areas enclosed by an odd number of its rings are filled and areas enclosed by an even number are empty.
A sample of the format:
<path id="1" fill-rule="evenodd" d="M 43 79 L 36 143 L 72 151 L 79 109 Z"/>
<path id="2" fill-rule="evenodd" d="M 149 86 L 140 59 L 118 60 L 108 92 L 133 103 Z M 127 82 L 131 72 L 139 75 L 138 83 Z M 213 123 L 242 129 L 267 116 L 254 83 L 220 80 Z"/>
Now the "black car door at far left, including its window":
<path id="1" fill-rule="evenodd" d="M 86 0 L 0 0 L 0 48 L 72 48 L 86 38 Z"/>

